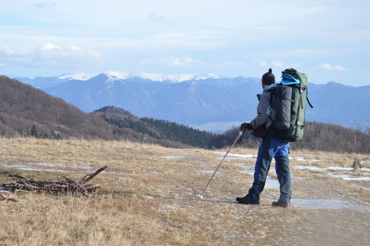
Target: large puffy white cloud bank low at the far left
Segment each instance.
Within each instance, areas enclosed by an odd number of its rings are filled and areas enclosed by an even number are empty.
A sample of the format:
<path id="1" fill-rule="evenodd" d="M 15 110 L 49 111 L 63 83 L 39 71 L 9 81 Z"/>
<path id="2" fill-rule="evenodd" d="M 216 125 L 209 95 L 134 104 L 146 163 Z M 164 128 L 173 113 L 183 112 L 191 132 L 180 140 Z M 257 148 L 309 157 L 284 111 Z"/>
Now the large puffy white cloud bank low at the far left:
<path id="1" fill-rule="evenodd" d="M 0 57 L 0 62 L 7 65 L 24 65 L 27 67 L 53 67 L 64 69 L 99 67 L 105 61 L 103 54 L 83 48 L 58 47 L 44 43 L 27 54 L 16 54 L 11 48 L 4 48 L 9 57 Z"/>

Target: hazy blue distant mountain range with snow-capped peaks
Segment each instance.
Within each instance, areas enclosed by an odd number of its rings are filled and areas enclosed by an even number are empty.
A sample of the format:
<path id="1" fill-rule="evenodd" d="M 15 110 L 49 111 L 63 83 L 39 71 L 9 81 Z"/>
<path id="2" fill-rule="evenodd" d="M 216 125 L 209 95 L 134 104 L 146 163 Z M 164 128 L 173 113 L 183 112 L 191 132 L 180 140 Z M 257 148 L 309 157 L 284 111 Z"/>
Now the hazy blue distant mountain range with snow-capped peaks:
<path id="1" fill-rule="evenodd" d="M 277 76 L 278 77 L 278 76 Z M 73 73 L 58 77 L 14 77 L 61 97 L 85 112 L 106 105 L 124 108 L 139 117 L 181 124 L 243 122 L 256 115 L 261 79 L 226 78 L 213 74 Z M 369 124 L 370 85 L 309 83 L 307 121 L 344 126 Z"/>

